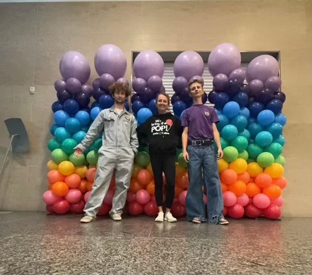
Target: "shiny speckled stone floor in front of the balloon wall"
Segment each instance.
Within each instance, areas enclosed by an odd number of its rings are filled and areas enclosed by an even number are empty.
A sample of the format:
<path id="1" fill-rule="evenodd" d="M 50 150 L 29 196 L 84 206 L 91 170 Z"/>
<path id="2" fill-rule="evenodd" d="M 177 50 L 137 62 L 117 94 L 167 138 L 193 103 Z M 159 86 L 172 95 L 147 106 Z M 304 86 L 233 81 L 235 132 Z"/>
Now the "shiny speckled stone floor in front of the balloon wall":
<path id="1" fill-rule="evenodd" d="M 0 215 L 0 273 L 312 273 L 312 218 L 214 226 L 81 217 Z"/>

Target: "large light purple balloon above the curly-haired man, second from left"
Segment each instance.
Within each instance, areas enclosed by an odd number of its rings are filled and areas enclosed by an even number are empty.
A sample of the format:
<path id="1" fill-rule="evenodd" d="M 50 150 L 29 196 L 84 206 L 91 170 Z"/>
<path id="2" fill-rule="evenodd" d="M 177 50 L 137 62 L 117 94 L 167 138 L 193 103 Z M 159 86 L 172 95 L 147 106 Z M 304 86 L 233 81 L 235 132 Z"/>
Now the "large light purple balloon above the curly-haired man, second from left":
<path id="1" fill-rule="evenodd" d="M 114 79 L 118 79 L 125 75 L 127 60 L 119 47 L 113 44 L 106 44 L 97 50 L 94 66 L 99 75 L 109 73 Z"/>

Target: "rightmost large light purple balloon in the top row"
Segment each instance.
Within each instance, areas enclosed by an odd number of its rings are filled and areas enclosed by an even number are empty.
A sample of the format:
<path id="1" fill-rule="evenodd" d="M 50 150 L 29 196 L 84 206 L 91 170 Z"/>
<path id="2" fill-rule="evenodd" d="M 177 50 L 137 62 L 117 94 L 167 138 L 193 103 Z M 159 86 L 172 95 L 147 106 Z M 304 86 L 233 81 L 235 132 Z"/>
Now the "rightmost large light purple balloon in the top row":
<path id="1" fill-rule="evenodd" d="M 263 83 L 271 77 L 277 76 L 279 65 L 277 60 L 268 54 L 263 54 L 254 58 L 248 65 L 246 71 L 247 81 L 260 79 Z"/>

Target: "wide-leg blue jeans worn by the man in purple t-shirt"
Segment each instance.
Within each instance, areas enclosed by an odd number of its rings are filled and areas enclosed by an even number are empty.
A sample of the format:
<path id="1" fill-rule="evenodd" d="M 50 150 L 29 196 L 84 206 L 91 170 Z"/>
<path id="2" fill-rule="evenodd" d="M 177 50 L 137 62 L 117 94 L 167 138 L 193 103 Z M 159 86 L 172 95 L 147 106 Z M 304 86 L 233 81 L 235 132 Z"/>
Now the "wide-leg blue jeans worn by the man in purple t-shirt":
<path id="1" fill-rule="evenodd" d="M 223 219 L 223 196 L 218 174 L 217 154 L 212 145 L 189 145 L 189 188 L 186 196 L 186 216 L 188 221 L 200 218 L 207 221 L 203 201 L 203 184 L 207 192 L 208 221 L 217 224 Z"/>

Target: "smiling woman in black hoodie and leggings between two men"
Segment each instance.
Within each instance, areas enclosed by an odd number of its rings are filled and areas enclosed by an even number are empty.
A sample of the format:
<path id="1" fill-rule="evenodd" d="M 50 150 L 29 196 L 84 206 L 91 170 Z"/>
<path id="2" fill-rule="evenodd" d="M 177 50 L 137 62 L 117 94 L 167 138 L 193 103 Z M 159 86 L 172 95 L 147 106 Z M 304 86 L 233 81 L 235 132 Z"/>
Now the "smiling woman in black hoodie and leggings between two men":
<path id="1" fill-rule="evenodd" d="M 166 177 L 166 215 L 165 221 L 176 222 L 170 209 L 175 197 L 175 156 L 177 147 L 181 148 L 183 128 L 181 121 L 168 112 L 170 98 L 167 94 L 159 94 L 156 106 L 158 115 L 147 119 L 136 128 L 140 144 L 149 145 L 151 167 L 155 181 L 155 198 L 158 206 L 156 222 L 164 221 L 163 212 L 163 171 Z"/>

